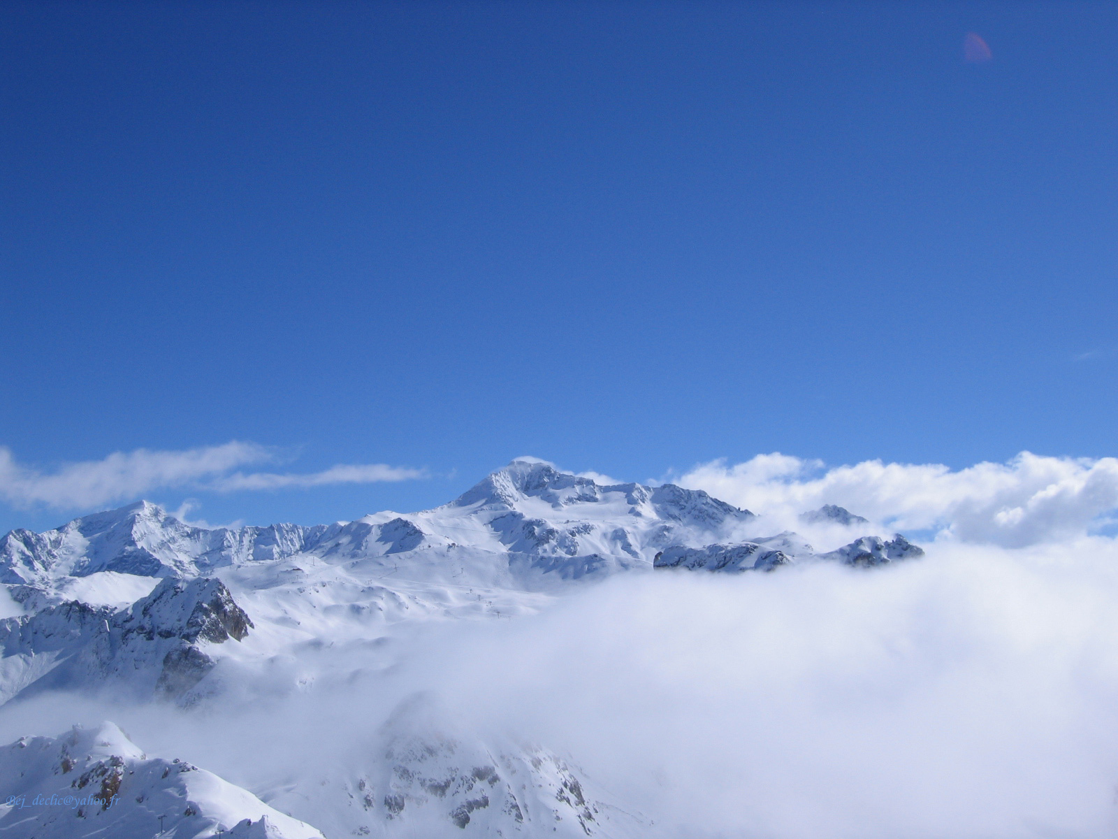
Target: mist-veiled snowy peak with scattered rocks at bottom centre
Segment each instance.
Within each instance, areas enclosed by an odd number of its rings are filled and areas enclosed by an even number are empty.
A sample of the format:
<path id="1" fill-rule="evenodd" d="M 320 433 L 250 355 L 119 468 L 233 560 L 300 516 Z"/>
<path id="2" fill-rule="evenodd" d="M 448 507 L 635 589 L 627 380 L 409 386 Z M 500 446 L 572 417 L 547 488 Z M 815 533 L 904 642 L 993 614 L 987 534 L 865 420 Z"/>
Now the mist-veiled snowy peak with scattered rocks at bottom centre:
<path id="1" fill-rule="evenodd" d="M 260 794 L 280 810 L 316 813 L 331 837 L 465 831 L 635 839 L 651 827 L 563 757 L 464 729 L 428 695 L 401 701 L 329 775 L 313 783 L 281 779 Z"/>

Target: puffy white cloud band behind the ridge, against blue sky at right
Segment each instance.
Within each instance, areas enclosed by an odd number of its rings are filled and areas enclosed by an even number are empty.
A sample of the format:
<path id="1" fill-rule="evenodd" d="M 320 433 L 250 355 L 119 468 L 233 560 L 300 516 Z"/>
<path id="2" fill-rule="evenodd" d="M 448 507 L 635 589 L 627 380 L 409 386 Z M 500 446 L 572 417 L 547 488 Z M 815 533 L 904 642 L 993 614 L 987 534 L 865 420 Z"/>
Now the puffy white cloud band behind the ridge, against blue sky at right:
<path id="1" fill-rule="evenodd" d="M 958 471 L 880 460 L 824 470 L 819 461 L 760 454 L 700 464 L 679 483 L 783 521 L 836 503 L 891 528 L 1010 547 L 1083 535 L 1118 508 L 1118 459 L 1030 452 Z"/>

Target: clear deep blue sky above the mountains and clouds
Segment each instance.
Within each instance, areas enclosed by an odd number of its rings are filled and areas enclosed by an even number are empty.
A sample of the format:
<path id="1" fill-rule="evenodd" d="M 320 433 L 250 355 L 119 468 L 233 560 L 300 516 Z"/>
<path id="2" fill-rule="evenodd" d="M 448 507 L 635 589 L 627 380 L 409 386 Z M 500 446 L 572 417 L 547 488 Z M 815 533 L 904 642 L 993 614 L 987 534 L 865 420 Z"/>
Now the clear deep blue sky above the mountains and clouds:
<path id="1" fill-rule="evenodd" d="M 257 524 L 525 453 L 1112 455 L 1116 37 L 1110 3 L 2 3 L 0 445 L 426 475 L 142 493 Z"/>

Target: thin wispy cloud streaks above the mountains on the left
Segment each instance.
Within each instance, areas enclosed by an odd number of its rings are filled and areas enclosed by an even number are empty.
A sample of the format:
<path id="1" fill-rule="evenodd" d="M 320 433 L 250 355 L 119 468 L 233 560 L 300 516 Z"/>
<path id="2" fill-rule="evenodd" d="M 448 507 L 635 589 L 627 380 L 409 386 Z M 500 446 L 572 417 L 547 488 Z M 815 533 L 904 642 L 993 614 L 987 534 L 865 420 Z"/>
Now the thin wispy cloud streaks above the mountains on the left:
<path id="1" fill-rule="evenodd" d="M 17 507 L 44 503 L 80 509 L 182 487 L 229 492 L 402 481 L 424 475 L 420 470 L 383 463 L 341 464 L 310 474 L 233 472 L 275 460 L 275 454 L 262 445 L 233 441 L 184 451 L 114 452 L 103 460 L 66 463 L 47 473 L 17 463 L 11 451 L 0 446 L 0 498 Z"/>

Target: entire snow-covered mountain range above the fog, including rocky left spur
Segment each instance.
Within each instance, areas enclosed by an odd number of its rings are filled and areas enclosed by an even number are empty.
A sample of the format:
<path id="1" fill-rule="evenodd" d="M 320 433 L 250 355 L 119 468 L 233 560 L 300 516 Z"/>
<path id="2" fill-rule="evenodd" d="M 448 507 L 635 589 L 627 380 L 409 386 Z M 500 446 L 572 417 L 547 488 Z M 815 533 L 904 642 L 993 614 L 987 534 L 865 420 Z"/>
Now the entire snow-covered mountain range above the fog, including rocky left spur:
<path id="1" fill-rule="evenodd" d="M 25 614 L 0 621 L 0 704 L 108 685 L 190 703 L 219 691 L 222 672 L 292 644 L 329 639 L 339 650 L 401 621 L 511 616 L 612 574 L 921 553 L 868 536 L 821 555 L 764 527 L 705 492 L 600 486 L 517 460 L 415 513 L 207 530 L 140 502 L 45 534 L 16 530 L 0 543 L 0 579 Z"/>

